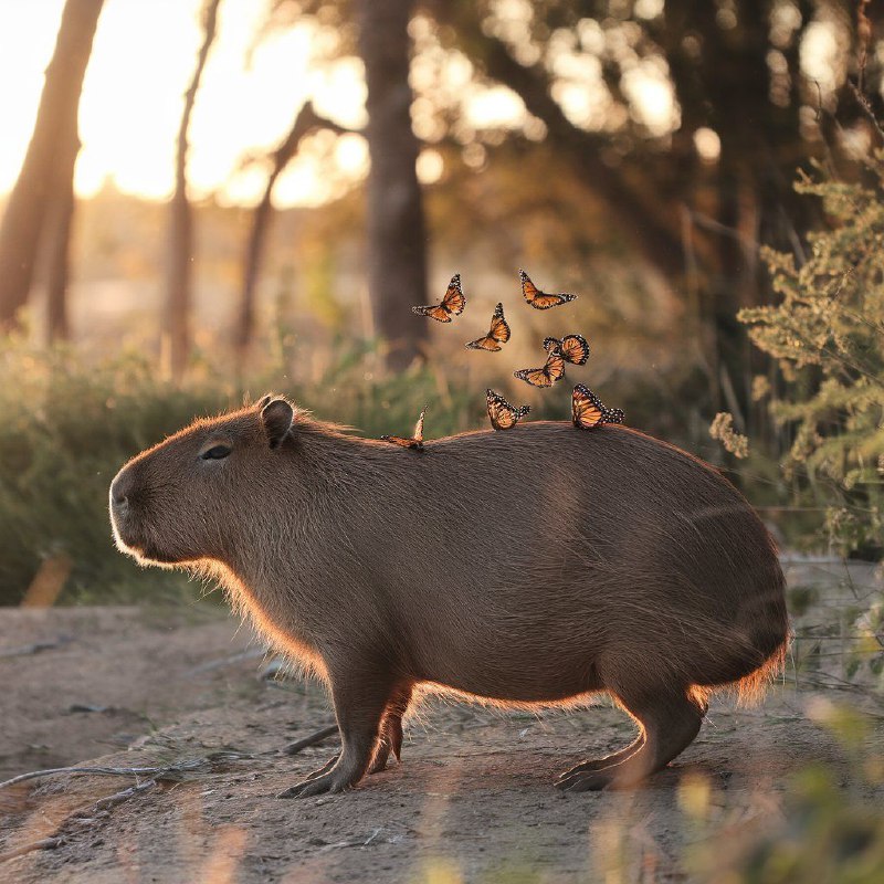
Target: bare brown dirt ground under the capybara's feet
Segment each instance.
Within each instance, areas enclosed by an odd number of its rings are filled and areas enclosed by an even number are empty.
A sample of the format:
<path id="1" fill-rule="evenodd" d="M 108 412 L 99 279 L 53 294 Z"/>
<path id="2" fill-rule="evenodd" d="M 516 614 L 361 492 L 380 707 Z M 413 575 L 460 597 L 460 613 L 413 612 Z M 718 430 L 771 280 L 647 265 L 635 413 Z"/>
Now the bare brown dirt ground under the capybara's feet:
<path id="1" fill-rule="evenodd" d="M 551 785 L 631 739 L 609 706 L 535 716 L 434 703 L 410 722 L 401 766 L 346 794 L 283 801 L 275 794 L 335 740 L 277 751 L 333 716 L 318 687 L 275 669 L 248 627 L 209 604 L 0 610 L 0 779 L 87 758 L 197 766 L 159 782 L 56 775 L 0 790 L 0 854 L 42 843 L 0 856 L 0 880 L 684 881 L 684 857 L 709 846 L 691 818 L 692 783 L 706 783 L 715 830 L 737 835 L 781 820 L 786 783 L 810 762 L 860 788 L 813 720 L 832 692 L 787 682 L 761 708 L 716 702 L 677 762 L 629 792 Z M 884 737 L 877 720 L 870 751 Z"/>

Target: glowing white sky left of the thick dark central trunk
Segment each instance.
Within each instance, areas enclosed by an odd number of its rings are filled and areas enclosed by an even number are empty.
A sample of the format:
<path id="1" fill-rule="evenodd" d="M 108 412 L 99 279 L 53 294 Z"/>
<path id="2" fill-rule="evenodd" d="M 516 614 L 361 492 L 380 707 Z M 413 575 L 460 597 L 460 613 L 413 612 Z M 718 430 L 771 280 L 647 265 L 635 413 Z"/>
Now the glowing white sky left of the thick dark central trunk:
<path id="1" fill-rule="evenodd" d="M 18 176 L 33 127 L 43 72 L 55 42 L 63 0 L 0 0 L 0 192 Z M 76 190 L 88 197 L 105 178 L 122 190 L 164 198 L 171 192 L 175 141 L 183 93 L 201 41 L 202 0 L 106 0 L 80 108 L 83 149 Z M 197 196 L 221 188 L 232 201 L 253 201 L 264 172 L 239 172 L 241 158 L 262 154 L 286 134 L 308 94 L 348 126 L 364 124 L 365 88 L 352 61 L 314 67 L 306 28 L 264 39 L 246 62 L 262 20 L 261 0 L 222 0 L 220 28 L 190 126 L 189 181 Z M 337 180 L 322 166 L 318 145 L 292 164 L 274 191 L 277 204 L 312 204 L 341 179 L 365 172 L 358 136 L 334 148 Z"/>

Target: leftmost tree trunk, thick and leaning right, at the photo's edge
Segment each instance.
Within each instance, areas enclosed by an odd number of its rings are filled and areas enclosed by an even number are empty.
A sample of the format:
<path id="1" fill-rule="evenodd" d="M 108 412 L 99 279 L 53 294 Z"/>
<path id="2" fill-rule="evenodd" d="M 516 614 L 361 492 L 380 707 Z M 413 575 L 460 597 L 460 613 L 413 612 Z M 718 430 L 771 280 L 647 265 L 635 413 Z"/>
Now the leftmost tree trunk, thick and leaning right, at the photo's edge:
<path id="1" fill-rule="evenodd" d="M 11 328 L 28 303 L 54 189 L 62 188 L 60 204 L 73 200 L 67 191 L 78 144 L 73 155 L 64 145 L 72 131 L 76 141 L 80 94 L 103 1 L 67 0 L 62 12 L 31 143 L 0 224 L 0 328 Z M 53 227 L 57 232 L 65 225 Z"/>

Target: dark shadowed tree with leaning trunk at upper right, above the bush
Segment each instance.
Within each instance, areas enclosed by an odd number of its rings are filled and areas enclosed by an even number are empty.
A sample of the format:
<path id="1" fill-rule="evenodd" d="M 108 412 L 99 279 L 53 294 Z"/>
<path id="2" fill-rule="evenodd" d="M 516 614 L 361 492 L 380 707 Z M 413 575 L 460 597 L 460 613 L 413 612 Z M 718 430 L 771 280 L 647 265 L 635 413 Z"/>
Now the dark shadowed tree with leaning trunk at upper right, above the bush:
<path id="1" fill-rule="evenodd" d="M 838 128 L 832 112 L 838 108 L 841 126 L 862 126 L 849 76 L 881 80 L 873 53 L 857 43 L 857 31 L 873 42 L 881 28 L 864 17 L 864 6 L 857 11 L 863 28 L 849 4 L 810 0 L 665 0 L 650 11 L 630 0 L 429 6 L 443 25 L 439 42 L 467 56 L 477 80 L 523 99 L 572 173 L 607 204 L 624 240 L 671 284 L 698 291 L 711 404 L 724 398 L 740 423 L 753 372 L 736 314 L 769 291 L 758 244 L 794 249 L 802 241 L 815 219 L 791 190 L 794 167 L 827 152 L 845 161 L 838 139 L 827 146 L 823 137 L 827 127 Z M 823 23 L 850 46 L 825 95 L 801 66 L 806 34 Z M 860 70 L 860 56 L 870 60 L 869 71 Z M 567 113 L 562 86 L 589 84 L 569 84 L 562 57 L 571 70 L 599 71 L 593 88 L 610 107 L 600 123 Z M 629 88 L 642 69 L 663 72 L 676 103 L 678 119 L 662 134 L 649 129 Z M 819 126 L 808 125 L 809 117 Z M 698 135 L 720 146 L 716 156 L 698 155 Z"/>

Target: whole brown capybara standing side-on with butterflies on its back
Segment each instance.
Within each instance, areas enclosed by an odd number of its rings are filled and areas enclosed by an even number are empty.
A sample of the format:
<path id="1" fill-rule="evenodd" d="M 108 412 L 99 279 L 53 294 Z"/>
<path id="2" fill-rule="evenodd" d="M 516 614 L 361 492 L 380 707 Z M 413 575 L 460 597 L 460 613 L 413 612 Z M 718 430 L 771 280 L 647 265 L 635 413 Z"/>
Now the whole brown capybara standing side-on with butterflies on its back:
<path id="1" fill-rule="evenodd" d="M 284 398 L 198 420 L 110 486 L 120 549 L 210 573 L 328 684 L 337 792 L 402 741 L 412 694 L 501 706 L 607 692 L 639 737 L 558 785 L 631 786 L 758 693 L 788 639 L 776 549 L 716 471 L 623 427 L 538 421 L 406 451 Z"/>

